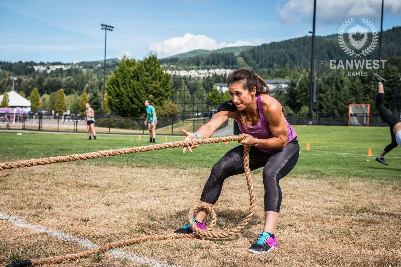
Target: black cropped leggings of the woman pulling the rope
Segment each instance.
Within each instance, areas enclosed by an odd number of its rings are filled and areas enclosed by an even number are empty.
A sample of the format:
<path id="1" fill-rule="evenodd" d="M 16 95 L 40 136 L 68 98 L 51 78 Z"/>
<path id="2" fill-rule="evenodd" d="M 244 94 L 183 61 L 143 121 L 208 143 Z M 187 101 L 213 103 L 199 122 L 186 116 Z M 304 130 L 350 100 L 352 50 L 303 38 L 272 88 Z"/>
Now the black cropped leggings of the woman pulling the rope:
<path id="1" fill-rule="evenodd" d="M 300 147 L 296 139 L 284 148 L 264 153 L 255 146 L 249 150 L 249 168 L 263 168 L 265 188 L 265 211 L 280 211 L 282 200 L 279 180 L 286 176 L 298 161 Z M 227 152 L 212 168 L 201 195 L 201 201 L 215 204 L 219 199 L 225 178 L 245 172 L 243 165 L 244 147 L 237 146 Z"/>

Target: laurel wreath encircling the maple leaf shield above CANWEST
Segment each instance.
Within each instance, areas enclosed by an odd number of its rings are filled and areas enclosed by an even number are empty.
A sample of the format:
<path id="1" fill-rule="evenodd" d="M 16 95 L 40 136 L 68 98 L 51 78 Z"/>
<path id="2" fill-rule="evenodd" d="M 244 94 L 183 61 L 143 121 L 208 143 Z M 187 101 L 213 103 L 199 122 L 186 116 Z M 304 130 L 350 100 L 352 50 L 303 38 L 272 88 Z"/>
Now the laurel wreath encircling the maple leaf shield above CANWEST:
<path id="1" fill-rule="evenodd" d="M 368 20 L 367 18 L 362 18 L 361 19 L 363 23 L 367 24 L 369 26 L 369 28 L 371 28 L 372 30 L 372 41 L 371 44 L 369 45 L 369 47 L 363 49 L 361 51 L 361 53 L 355 53 L 353 49 L 350 49 L 347 44 L 344 42 L 344 31 L 345 29 L 348 27 L 349 24 L 353 23 L 355 20 L 354 18 L 348 18 L 348 20 L 345 20 L 344 23 L 342 23 L 342 25 L 340 26 L 340 28 L 338 29 L 338 43 L 340 44 L 341 49 L 347 53 L 347 55 L 353 56 L 355 55 L 355 57 L 361 57 L 360 55 L 368 55 L 370 54 L 373 49 L 375 49 L 376 44 L 377 44 L 377 29 L 375 27 L 375 25 L 373 25 L 373 23 Z"/>

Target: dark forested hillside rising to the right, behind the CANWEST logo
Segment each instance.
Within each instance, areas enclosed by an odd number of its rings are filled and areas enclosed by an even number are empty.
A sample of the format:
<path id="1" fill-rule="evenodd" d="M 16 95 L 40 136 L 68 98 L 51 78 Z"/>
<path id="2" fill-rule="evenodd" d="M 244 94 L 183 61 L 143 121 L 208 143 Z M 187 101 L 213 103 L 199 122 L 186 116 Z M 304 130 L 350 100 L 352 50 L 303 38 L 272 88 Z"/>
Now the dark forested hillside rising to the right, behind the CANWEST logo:
<path id="1" fill-rule="evenodd" d="M 337 34 L 328 36 L 316 36 L 315 58 L 328 61 L 330 59 L 351 59 L 344 53 L 337 40 Z M 344 38 L 346 39 L 346 38 Z M 371 37 L 368 42 L 371 41 Z M 401 26 L 393 27 L 383 32 L 382 38 L 383 56 L 401 56 Z M 299 69 L 310 67 L 311 58 L 311 36 L 304 36 L 280 42 L 270 42 L 257 47 L 245 49 L 239 55 L 231 52 L 217 53 L 211 51 L 209 55 L 196 55 L 189 58 L 169 57 L 161 59 L 160 63 L 168 67 L 170 64 L 182 69 L 209 69 L 209 68 L 230 68 L 250 67 L 254 70 L 267 68 L 283 68 L 297 66 Z M 349 44 L 348 44 L 349 46 Z M 378 57 L 379 44 L 375 50 L 367 55 L 365 59 Z M 190 53 L 190 52 L 188 52 Z"/>

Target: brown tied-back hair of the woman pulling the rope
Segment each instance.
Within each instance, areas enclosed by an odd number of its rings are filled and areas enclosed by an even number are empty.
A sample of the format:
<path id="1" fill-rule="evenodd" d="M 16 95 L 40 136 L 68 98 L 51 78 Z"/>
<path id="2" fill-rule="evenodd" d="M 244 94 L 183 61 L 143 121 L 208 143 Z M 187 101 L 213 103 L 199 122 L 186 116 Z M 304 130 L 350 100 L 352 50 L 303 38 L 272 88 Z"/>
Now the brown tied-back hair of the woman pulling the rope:
<path id="1" fill-rule="evenodd" d="M 230 83 L 242 83 L 243 87 L 247 89 L 249 93 L 252 91 L 253 88 L 256 88 L 256 93 L 270 95 L 269 85 L 267 85 L 267 83 L 263 81 L 263 79 L 259 75 L 248 69 L 239 69 L 231 73 L 230 77 L 228 78 L 228 86 L 230 86 Z M 286 110 L 284 109 L 283 105 L 282 108 L 285 115 Z M 245 126 L 245 129 L 248 130 L 246 119 L 247 115 L 245 111 L 237 110 L 237 113 L 239 115 L 239 119 Z"/>

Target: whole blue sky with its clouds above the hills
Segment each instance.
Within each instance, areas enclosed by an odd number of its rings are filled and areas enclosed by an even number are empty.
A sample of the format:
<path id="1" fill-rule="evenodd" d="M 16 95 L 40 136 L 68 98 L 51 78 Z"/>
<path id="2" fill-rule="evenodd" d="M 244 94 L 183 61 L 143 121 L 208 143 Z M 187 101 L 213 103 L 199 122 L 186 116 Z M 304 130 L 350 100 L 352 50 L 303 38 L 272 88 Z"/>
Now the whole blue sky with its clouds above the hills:
<path id="1" fill-rule="evenodd" d="M 347 18 L 380 28 L 380 0 L 318 0 L 316 34 L 338 32 Z M 91 61 L 126 54 L 142 59 L 192 49 L 280 41 L 312 30 L 313 0 L 9 1 L 0 0 L 0 60 Z M 386 0 L 383 30 L 401 25 L 401 1 Z"/>

